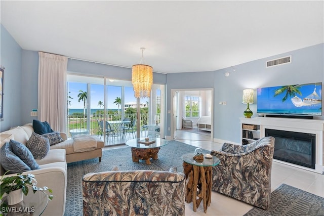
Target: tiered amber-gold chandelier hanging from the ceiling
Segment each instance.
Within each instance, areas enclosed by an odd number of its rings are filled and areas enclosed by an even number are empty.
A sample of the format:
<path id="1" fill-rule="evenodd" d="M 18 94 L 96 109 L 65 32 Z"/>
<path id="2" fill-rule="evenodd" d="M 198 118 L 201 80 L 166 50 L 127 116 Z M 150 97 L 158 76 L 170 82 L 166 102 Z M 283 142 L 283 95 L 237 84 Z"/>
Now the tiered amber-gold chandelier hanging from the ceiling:
<path id="1" fill-rule="evenodd" d="M 135 98 L 149 98 L 153 83 L 153 68 L 149 65 L 142 64 L 144 61 L 143 52 L 145 48 L 141 48 L 142 58 L 139 64 L 132 66 L 132 84 L 134 88 Z"/>

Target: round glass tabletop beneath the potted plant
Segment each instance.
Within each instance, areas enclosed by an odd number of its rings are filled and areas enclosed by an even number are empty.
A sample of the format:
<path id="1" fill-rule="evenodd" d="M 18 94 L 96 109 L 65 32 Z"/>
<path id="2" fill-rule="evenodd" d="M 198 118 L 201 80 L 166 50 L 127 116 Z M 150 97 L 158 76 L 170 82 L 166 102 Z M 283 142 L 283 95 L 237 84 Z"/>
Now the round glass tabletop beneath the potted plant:
<path id="1" fill-rule="evenodd" d="M 2 199 L 2 202 L 7 203 L 7 196 Z M 33 193 L 29 190 L 27 196 L 23 196 L 23 200 L 15 205 L 9 205 L 8 213 L 4 215 L 41 215 L 49 202 L 48 195 L 43 191 Z M 3 210 L 3 209 L 0 209 Z"/>

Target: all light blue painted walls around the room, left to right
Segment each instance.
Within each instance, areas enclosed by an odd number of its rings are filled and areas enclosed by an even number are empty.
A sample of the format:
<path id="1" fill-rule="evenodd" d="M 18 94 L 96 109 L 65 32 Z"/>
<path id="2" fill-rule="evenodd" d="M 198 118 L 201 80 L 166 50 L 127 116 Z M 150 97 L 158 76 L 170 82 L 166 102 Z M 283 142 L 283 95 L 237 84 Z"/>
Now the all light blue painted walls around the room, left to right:
<path id="1" fill-rule="evenodd" d="M 30 111 L 37 107 L 38 53 L 22 50 L 6 29 L 1 26 L 1 64 L 5 74 L 5 119 L 1 130 L 10 126 L 31 122 Z M 292 55 L 292 63 L 265 68 L 267 60 Z M 240 142 L 239 117 L 246 104 L 242 104 L 242 90 L 296 83 L 324 83 L 324 44 L 272 56 L 231 68 L 208 72 L 153 74 L 154 83 L 166 84 L 166 110 L 171 110 L 172 89 L 214 89 L 214 138 Z M 9 71 L 9 72 L 8 72 Z M 131 69 L 79 60 L 68 60 L 68 71 L 80 74 L 102 75 L 116 79 L 131 80 Z M 225 72 L 230 72 L 228 77 Z M 8 81 L 9 80 L 9 81 Z M 19 83 L 17 87 L 17 83 Z M 6 95 L 10 93 L 10 97 Z M 227 105 L 219 105 L 226 101 Z M 7 105 L 9 104 L 9 105 Z M 18 105 L 18 106 L 17 106 Z M 256 113 L 256 104 L 250 106 Z M 171 125 L 167 116 L 166 128 Z M 324 119 L 318 116 L 317 119 Z M 166 131 L 170 136 L 170 131 Z"/>

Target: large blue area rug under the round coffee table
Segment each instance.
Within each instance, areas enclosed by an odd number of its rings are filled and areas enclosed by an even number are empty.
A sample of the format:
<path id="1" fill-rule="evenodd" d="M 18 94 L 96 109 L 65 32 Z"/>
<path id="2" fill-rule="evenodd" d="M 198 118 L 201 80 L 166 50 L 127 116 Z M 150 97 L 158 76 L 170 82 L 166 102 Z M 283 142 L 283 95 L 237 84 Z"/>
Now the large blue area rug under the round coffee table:
<path id="1" fill-rule="evenodd" d="M 178 141 L 169 141 L 169 144 L 161 147 L 158 159 L 152 160 L 147 165 L 144 160 L 139 163 L 132 161 L 130 147 L 103 151 L 101 162 L 98 158 L 83 160 L 67 164 L 67 187 L 66 205 L 64 215 L 82 215 L 82 177 L 89 172 L 110 171 L 113 166 L 119 170 L 169 170 L 176 166 L 178 172 L 183 172 L 181 155 L 194 152 L 195 146 L 187 145 Z M 210 153 L 203 149 L 203 153 Z"/>

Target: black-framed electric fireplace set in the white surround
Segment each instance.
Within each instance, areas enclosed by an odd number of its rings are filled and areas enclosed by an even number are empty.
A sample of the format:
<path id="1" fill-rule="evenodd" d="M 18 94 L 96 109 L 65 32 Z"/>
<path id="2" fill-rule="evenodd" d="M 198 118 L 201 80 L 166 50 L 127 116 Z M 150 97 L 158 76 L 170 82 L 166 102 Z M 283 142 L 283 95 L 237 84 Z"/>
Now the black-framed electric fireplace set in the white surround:
<path id="1" fill-rule="evenodd" d="M 274 159 L 315 169 L 315 134 L 265 128 L 265 135 L 275 138 Z"/>

